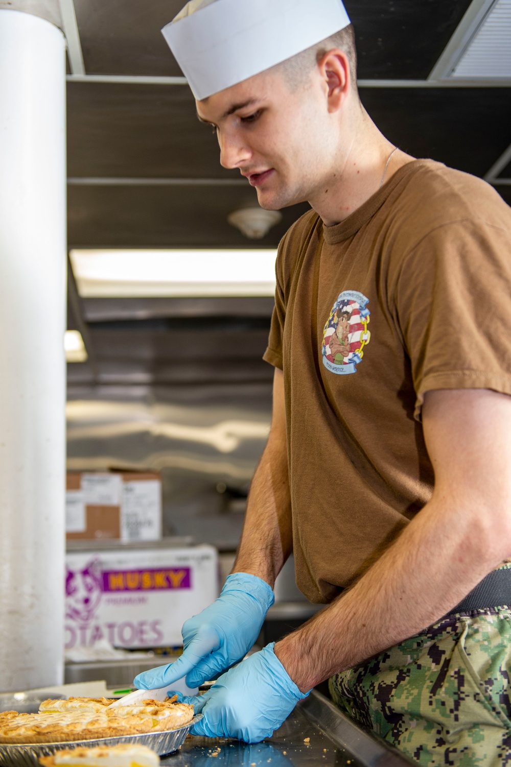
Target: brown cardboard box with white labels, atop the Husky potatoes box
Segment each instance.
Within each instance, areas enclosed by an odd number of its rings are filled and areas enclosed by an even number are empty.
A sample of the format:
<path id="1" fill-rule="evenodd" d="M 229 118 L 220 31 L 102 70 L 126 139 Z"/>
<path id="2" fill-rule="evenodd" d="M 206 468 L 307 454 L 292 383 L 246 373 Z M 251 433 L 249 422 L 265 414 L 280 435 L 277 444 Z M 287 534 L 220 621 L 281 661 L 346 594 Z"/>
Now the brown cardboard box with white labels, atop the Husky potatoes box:
<path id="1" fill-rule="evenodd" d="M 161 538 L 160 476 L 152 472 L 70 472 L 66 485 L 69 539 Z"/>

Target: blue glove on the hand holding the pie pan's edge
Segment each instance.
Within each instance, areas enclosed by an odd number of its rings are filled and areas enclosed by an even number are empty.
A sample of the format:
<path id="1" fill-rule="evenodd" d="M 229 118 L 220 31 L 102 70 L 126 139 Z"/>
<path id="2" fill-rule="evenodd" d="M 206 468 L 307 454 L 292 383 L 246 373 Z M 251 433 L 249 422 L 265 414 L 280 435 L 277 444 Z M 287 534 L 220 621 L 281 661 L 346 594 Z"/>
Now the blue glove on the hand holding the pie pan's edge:
<path id="1" fill-rule="evenodd" d="M 298 690 L 273 652 L 274 644 L 219 676 L 204 695 L 179 695 L 180 702 L 191 703 L 196 714 L 203 714 L 192 735 L 259 743 L 281 726 L 308 693 Z"/>

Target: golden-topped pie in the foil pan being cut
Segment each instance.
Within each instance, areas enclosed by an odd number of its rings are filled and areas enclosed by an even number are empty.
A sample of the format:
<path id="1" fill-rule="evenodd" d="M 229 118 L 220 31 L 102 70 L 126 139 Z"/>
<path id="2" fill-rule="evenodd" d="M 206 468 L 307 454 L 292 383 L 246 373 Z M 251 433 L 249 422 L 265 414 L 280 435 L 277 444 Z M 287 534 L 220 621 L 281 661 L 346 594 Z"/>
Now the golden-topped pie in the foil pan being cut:
<path id="1" fill-rule="evenodd" d="M 107 698 L 45 700 L 37 714 L 0 713 L 0 743 L 51 743 L 120 738 L 181 727 L 193 719 L 193 706 L 177 696 L 143 700 L 109 709 Z"/>

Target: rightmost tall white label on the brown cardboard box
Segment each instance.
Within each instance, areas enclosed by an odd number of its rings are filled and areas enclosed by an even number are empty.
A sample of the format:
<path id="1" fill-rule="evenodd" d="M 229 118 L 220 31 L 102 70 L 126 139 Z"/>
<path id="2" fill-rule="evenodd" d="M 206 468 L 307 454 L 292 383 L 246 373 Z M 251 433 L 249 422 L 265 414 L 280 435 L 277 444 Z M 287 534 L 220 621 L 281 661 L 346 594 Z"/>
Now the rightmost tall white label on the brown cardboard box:
<path id="1" fill-rule="evenodd" d="M 120 508 L 120 536 L 123 541 L 154 541 L 161 537 L 159 479 L 124 482 Z"/>

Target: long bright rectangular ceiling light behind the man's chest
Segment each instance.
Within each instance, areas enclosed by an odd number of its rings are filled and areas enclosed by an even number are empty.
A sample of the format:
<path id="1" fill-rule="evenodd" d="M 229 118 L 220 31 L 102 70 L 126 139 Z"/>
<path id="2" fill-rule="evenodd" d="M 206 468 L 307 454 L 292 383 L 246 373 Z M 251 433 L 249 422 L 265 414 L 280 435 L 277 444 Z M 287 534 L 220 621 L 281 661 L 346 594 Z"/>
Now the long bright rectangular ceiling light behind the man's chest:
<path id="1" fill-rule="evenodd" d="M 276 250 L 71 250 L 84 298 L 275 293 Z"/>

